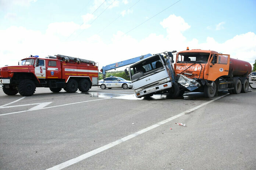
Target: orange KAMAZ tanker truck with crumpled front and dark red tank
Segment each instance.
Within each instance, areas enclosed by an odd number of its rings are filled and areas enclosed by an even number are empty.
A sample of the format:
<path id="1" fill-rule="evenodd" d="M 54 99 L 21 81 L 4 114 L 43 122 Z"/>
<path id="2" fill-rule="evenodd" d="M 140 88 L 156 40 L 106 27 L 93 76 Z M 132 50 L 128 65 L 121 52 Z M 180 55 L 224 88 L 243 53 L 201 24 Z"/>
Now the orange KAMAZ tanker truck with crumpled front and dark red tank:
<path id="1" fill-rule="evenodd" d="M 211 98 L 224 90 L 247 93 L 252 66 L 228 54 L 187 48 L 177 53 L 174 71 L 178 77 L 179 95 L 185 91 L 204 92 L 205 97 Z"/>

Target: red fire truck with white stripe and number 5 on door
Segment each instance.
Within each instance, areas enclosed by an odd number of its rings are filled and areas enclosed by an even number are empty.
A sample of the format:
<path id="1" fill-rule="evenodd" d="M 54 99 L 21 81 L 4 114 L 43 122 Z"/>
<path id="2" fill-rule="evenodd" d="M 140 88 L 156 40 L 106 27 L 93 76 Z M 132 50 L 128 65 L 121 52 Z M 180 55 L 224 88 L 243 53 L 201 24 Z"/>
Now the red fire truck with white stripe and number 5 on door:
<path id="1" fill-rule="evenodd" d="M 87 92 L 92 85 L 97 85 L 98 67 L 94 61 L 65 55 L 30 56 L 22 59 L 18 66 L 0 68 L 0 84 L 6 95 L 31 96 L 36 87 L 50 88 L 60 92 L 62 88 L 68 93 L 77 89 Z"/>

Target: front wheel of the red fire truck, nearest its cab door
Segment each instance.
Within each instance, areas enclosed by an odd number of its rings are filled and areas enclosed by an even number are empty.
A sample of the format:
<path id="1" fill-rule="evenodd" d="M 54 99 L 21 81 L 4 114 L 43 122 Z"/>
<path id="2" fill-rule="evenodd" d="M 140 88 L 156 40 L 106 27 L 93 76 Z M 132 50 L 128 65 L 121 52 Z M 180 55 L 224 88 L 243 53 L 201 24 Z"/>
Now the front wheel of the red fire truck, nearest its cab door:
<path id="1" fill-rule="evenodd" d="M 21 96 L 32 96 L 36 91 L 36 85 L 32 80 L 21 80 L 18 86 L 18 91 Z"/>

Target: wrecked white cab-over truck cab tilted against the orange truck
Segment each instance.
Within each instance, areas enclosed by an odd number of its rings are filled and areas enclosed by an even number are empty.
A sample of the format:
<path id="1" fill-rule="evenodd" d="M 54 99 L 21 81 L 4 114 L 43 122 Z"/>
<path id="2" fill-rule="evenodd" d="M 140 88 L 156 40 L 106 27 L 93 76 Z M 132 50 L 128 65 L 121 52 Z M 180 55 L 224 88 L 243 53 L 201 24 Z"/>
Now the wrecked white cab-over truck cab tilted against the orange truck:
<path id="1" fill-rule="evenodd" d="M 173 51 L 173 53 L 176 51 Z M 175 82 L 172 52 L 152 55 L 129 67 L 129 75 L 136 97 L 165 94 L 177 97 L 179 86 Z M 127 69 L 125 72 L 128 74 Z"/>

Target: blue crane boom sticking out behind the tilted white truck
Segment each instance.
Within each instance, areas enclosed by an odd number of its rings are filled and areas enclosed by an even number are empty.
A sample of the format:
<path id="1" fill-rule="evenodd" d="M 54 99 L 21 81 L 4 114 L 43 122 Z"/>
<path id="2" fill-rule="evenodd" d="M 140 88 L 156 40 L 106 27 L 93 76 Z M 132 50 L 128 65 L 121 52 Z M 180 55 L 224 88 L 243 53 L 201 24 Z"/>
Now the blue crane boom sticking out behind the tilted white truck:
<path id="1" fill-rule="evenodd" d="M 109 64 L 109 65 L 106 65 L 106 66 L 102 67 L 102 69 L 100 71 L 102 72 L 102 74 L 104 76 L 104 75 L 106 75 L 106 71 L 108 71 L 108 70 L 116 69 L 116 68 L 122 67 L 122 66 L 127 66 L 129 64 L 136 63 L 139 60 L 145 59 L 145 58 L 150 57 L 150 56 L 152 56 L 152 54 L 146 54 L 146 55 L 142 55 L 142 56 L 135 57 L 135 58 L 132 58 L 132 59 L 124 60 L 124 61 L 121 61 L 121 62 Z"/>

